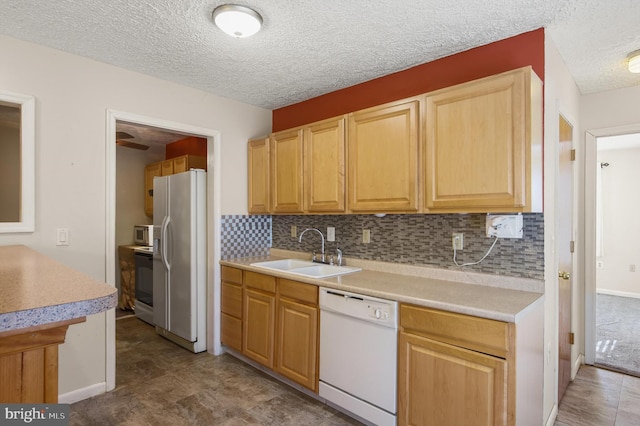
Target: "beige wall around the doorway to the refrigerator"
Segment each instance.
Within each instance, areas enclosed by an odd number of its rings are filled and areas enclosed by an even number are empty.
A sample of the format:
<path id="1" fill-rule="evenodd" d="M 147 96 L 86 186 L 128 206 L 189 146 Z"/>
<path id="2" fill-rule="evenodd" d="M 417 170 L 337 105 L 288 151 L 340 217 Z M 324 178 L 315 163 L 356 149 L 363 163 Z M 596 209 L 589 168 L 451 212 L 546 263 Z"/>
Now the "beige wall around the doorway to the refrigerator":
<path id="1" fill-rule="evenodd" d="M 270 111 L 9 37 L 0 52 L 0 90 L 36 99 L 36 231 L 0 234 L 1 245 L 27 245 L 105 280 L 107 110 L 219 131 L 221 213 L 247 212 L 246 141 L 269 133 Z M 59 227 L 69 228 L 68 247 L 55 245 Z M 60 393 L 104 384 L 105 321 L 70 327 Z"/>

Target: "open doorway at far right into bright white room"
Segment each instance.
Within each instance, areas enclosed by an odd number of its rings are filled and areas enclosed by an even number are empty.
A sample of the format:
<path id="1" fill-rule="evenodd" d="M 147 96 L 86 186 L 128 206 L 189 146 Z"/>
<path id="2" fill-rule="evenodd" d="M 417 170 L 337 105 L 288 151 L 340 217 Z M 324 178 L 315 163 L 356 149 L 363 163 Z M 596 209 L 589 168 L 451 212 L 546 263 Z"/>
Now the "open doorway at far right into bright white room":
<path id="1" fill-rule="evenodd" d="M 640 376 L 640 133 L 596 138 L 595 365 Z"/>

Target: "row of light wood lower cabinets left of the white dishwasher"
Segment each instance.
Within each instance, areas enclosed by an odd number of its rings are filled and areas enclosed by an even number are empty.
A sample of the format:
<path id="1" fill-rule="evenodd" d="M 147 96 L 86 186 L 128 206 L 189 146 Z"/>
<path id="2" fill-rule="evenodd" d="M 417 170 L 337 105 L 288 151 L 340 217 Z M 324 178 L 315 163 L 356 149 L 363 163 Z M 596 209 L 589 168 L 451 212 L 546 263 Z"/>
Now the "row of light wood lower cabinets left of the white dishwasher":
<path id="1" fill-rule="evenodd" d="M 317 286 L 222 267 L 222 343 L 313 392 L 319 320 Z"/>

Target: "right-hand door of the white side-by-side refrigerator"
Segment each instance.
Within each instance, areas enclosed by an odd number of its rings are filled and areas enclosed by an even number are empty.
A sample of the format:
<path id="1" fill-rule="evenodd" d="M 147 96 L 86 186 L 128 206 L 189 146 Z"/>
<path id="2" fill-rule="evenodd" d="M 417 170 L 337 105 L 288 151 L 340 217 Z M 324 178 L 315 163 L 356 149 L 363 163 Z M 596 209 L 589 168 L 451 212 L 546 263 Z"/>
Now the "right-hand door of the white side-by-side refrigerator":
<path id="1" fill-rule="evenodd" d="M 183 339 L 197 339 L 196 306 L 196 174 L 169 176 L 169 222 L 166 244 L 169 280 L 166 329 Z"/>

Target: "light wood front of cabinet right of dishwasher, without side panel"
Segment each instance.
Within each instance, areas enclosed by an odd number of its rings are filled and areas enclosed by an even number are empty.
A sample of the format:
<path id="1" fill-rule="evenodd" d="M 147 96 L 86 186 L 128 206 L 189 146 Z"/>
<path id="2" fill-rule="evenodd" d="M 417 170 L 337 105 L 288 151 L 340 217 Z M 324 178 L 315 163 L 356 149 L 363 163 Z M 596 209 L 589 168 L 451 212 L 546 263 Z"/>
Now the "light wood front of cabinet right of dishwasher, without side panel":
<path id="1" fill-rule="evenodd" d="M 514 424 L 513 324 L 403 304 L 400 327 L 399 425 Z"/>

